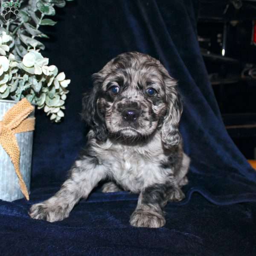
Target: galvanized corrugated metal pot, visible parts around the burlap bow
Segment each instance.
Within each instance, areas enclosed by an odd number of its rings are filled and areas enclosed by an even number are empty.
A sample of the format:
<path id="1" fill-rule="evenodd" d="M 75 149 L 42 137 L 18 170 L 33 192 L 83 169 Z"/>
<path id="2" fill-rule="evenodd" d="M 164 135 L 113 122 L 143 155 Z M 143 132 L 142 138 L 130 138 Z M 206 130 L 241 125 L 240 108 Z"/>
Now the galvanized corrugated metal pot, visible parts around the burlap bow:
<path id="1" fill-rule="evenodd" d="M 12 108 L 17 102 L 10 100 L 0 100 L 0 121 L 6 111 Z M 33 117 L 33 111 L 28 117 Z M 33 131 L 15 134 L 20 148 L 20 173 L 30 192 L 30 175 L 32 162 Z M 20 191 L 18 177 L 9 155 L 0 145 L 0 199 L 14 201 L 23 198 Z"/>

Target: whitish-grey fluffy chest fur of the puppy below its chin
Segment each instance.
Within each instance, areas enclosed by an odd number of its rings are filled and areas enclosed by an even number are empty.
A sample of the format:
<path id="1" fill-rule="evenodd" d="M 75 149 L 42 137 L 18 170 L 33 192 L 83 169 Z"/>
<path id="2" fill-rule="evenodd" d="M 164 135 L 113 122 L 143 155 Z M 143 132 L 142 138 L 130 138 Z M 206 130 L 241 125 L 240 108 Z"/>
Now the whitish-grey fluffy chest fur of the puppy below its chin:
<path id="1" fill-rule="evenodd" d="M 166 181 L 166 175 L 160 169 L 158 151 L 159 148 L 148 151 L 147 147 L 145 152 L 143 148 L 111 145 L 103 164 L 108 166 L 111 176 L 124 189 L 138 193 L 143 187 Z"/>

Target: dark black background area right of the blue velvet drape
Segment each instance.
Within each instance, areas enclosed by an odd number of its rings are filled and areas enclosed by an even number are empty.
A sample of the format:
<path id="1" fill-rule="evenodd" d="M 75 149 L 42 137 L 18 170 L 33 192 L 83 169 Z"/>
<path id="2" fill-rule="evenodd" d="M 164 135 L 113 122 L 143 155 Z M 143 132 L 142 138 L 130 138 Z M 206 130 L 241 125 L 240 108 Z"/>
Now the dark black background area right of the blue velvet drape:
<path id="1" fill-rule="evenodd" d="M 256 67 L 256 44 L 252 40 L 256 3 L 236 0 L 201 0 L 200 3 L 199 44 L 222 119 L 244 156 L 255 159 L 256 79 L 242 77 L 241 73 L 247 65 Z"/>

